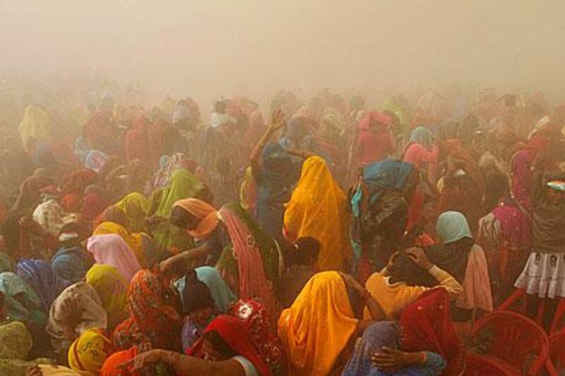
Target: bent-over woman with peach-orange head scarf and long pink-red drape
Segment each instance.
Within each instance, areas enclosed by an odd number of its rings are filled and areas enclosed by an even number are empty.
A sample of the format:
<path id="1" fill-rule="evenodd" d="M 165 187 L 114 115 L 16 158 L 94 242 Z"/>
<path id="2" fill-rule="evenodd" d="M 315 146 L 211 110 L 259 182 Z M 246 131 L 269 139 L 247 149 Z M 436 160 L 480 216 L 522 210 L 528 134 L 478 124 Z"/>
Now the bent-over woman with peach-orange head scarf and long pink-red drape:
<path id="1" fill-rule="evenodd" d="M 278 245 L 263 234 L 238 204 L 224 205 L 216 212 L 201 200 L 175 202 L 172 221 L 186 229 L 199 245 L 161 263 L 160 269 L 206 259 L 240 298 L 258 296 L 269 315 L 275 315 L 278 291 Z M 229 239 L 225 239 L 225 232 Z M 220 235 L 222 234 L 223 235 Z"/>

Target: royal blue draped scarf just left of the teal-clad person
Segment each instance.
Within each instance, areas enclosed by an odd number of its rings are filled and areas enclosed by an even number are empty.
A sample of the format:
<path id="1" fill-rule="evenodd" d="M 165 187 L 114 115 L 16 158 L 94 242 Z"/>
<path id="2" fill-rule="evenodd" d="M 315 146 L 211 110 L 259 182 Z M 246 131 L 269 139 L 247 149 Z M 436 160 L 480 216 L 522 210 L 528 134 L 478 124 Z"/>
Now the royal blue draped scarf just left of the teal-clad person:
<path id="1" fill-rule="evenodd" d="M 44 312 L 49 311 L 55 298 L 71 284 L 59 277 L 45 260 L 20 259 L 16 274 L 37 293 Z"/>

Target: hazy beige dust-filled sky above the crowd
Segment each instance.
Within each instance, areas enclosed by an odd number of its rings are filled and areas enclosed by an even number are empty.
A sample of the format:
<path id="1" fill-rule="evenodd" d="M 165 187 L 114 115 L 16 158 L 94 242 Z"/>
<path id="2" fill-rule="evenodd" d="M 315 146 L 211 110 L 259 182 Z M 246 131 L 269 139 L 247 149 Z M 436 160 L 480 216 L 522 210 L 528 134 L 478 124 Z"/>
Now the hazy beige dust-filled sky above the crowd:
<path id="1" fill-rule="evenodd" d="M 458 80 L 565 98 L 565 0 L 0 0 L 0 69 L 155 95 Z"/>

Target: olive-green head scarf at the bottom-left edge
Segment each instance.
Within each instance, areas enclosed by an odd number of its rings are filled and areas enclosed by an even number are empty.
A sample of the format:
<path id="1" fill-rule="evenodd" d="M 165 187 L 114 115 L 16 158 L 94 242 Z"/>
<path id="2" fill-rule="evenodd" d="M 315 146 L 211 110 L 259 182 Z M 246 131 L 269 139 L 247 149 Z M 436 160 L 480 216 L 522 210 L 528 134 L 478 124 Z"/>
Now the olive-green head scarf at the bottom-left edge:
<path id="1" fill-rule="evenodd" d="M 0 325 L 0 359 L 28 358 L 33 339 L 23 322 L 14 321 Z"/>

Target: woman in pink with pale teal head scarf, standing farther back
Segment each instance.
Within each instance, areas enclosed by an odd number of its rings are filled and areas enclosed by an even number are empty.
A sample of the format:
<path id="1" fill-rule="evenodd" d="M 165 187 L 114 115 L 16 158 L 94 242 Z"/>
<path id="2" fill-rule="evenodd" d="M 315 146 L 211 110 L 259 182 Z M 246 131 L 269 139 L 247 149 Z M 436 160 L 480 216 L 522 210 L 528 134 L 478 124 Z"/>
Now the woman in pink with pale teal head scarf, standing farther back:
<path id="1" fill-rule="evenodd" d="M 415 166 L 421 172 L 427 171 L 427 174 L 422 176 L 422 179 L 424 179 L 422 183 L 432 189 L 435 187 L 434 172 L 438 157 L 439 147 L 434 144 L 432 132 L 423 126 L 414 128 L 410 134 L 410 140 L 408 140 L 402 159 L 404 162 Z M 424 189 L 422 184 L 419 184 L 412 200 L 410 200 L 406 229 L 410 229 L 420 222 L 424 210 Z"/>

